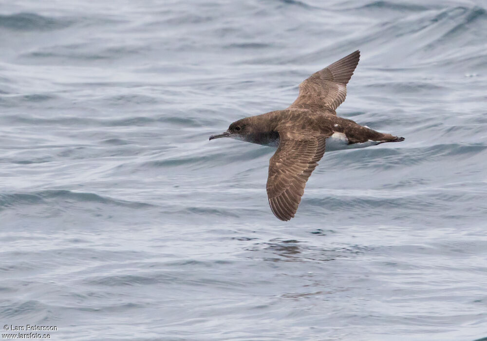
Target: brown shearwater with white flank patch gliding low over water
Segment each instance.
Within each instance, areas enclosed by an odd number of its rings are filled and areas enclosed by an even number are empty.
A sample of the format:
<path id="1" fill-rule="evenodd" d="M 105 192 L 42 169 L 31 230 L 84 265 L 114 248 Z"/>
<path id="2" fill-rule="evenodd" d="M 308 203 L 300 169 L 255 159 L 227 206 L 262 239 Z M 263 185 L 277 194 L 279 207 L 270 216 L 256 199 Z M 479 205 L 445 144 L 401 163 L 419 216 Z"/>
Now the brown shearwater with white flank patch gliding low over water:
<path id="1" fill-rule="evenodd" d="M 231 137 L 277 147 L 269 161 L 267 196 L 281 220 L 294 217 L 306 181 L 325 151 L 364 148 L 404 137 L 379 133 L 337 116 L 347 95 L 347 83 L 360 58 L 355 51 L 309 76 L 300 84 L 298 98 L 285 110 L 245 117 L 210 140 Z"/>

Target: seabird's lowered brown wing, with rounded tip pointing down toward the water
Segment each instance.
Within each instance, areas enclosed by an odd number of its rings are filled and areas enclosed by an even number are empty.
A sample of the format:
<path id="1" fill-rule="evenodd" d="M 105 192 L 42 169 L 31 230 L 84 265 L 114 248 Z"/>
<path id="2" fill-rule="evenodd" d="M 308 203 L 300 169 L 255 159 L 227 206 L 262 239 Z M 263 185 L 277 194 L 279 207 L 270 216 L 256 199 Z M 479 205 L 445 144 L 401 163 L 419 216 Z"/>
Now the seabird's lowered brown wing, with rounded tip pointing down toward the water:
<path id="1" fill-rule="evenodd" d="M 294 217 L 311 172 L 325 152 L 327 135 L 309 133 L 280 133 L 277 151 L 269 161 L 267 196 L 276 217 Z"/>

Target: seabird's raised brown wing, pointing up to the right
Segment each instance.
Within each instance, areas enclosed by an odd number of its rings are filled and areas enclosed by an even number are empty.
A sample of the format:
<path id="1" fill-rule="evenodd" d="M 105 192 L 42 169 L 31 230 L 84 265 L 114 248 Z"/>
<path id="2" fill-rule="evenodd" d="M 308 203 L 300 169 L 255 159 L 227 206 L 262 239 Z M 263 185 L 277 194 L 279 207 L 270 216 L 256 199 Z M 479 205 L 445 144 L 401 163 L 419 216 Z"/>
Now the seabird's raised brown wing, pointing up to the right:
<path id="1" fill-rule="evenodd" d="M 335 111 L 345 100 L 347 83 L 354 74 L 358 59 L 360 51 L 357 50 L 309 76 L 300 84 L 300 95 L 289 108 Z"/>

